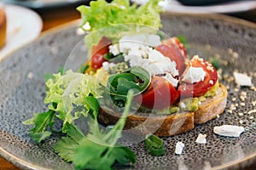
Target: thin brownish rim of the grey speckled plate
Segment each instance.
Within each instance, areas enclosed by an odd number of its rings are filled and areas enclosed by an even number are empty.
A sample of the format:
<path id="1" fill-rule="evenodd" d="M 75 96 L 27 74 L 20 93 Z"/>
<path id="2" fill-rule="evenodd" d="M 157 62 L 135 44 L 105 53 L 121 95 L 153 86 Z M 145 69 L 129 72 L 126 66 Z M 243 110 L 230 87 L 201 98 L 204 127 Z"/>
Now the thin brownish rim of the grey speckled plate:
<path id="1" fill-rule="evenodd" d="M 230 23 L 234 23 L 236 25 L 240 25 L 240 26 L 248 26 L 251 27 L 253 29 L 256 30 L 256 24 L 251 22 L 251 21 L 247 21 L 247 20 L 242 20 L 242 19 L 238 19 L 236 17 L 232 17 L 232 16 L 228 16 L 228 15 L 224 15 L 224 14 L 187 14 L 187 13 L 177 13 L 177 12 L 164 12 L 161 15 L 176 15 L 176 16 L 187 16 L 187 17 L 193 17 L 193 18 L 200 18 L 200 19 L 206 19 L 206 20 L 222 20 L 222 21 L 226 21 L 226 22 L 230 22 Z M 47 31 L 42 32 L 39 37 L 37 37 L 36 39 L 34 39 L 32 42 L 44 39 L 44 37 L 48 37 L 51 34 L 57 33 L 58 31 L 66 31 L 69 29 L 74 28 L 75 26 L 79 26 L 79 20 L 73 20 L 71 22 L 67 22 L 65 24 L 62 24 L 60 26 L 55 26 L 54 28 L 51 28 Z M 0 62 L 3 62 L 4 59 L 6 59 L 8 56 L 14 54 L 15 52 L 21 50 L 22 48 L 24 48 L 25 46 L 28 46 L 30 44 L 32 44 L 32 42 L 27 42 L 26 44 L 24 44 L 23 46 L 21 46 L 20 48 L 15 49 L 15 51 L 13 51 L 12 53 L 8 54 L 7 56 L 5 56 L 3 59 L 0 59 Z M 9 151 L 4 150 L 4 148 L 0 145 L 0 156 L 3 156 L 3 158 L 7 159 L 8 161 L 10 161 L 11 163 L 13 163 L 15 166 L 20 167 L 20 168 L 29 168 L 29 169 L 48 169 L 48 168 L 44 168 L 44 167 L 38 167 L 37 165 L 32 164 L 31 162 L 28 161 L 24 161 L 22 159 L 20 159 L 17 156 L 14 156 L 13 154 L 11 154 Z M 230 168 L 230 167 L 236 167 L 242 163 L 248 162 L 248 161 L 255 161 L 256 160 L 256 152 L 240 159 L 240 160 L 236 160 L 236 161 L 230 161 L 227 163 L 224 163 L 223 165 L 219 165 L 216 167 L 212 167 L 212 169 L 223 169 L 223 168 Z"/>

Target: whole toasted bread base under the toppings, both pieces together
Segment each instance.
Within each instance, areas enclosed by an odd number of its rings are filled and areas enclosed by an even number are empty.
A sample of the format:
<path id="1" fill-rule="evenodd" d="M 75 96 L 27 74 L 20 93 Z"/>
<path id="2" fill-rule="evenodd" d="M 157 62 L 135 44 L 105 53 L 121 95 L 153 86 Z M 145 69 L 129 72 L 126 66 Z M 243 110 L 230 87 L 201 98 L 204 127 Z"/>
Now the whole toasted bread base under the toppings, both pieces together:
<path id="1" fill-rule="evenodd" d="M 178 112 L 168 116 L 136 113 L 127 117 L 125 129 L 137 128 L 141 133 L 154 133 L 160 137 L 172 136 L 187 132 L 195 127 L 195 123 L 204 123 L 218 116 L 224 111 L 227 100 L 227 89 L 220 84 L 215 96 L 202 102 L 199 110 L 194 112 Z M 113 125 L 121 113 L 102 106 L 99 111 L 99 122 Z"/>

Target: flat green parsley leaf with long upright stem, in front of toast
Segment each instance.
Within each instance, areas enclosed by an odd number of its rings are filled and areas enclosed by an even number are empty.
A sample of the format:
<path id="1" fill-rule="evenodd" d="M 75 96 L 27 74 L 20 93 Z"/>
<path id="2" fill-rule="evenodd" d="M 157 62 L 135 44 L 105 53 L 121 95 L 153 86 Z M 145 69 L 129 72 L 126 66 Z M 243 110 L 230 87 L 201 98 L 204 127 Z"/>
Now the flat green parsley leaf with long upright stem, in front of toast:
<path id="1" fill-rule="evenodd" d="M 90 133 L 86 136 L 78 127 L 67 124 L 67 137 L 62 137 L 55 144 L 55 152 L 65 161 L 72 161 L 75 169 L 111 169 L 113 163 L 118 161 L 126 165 L 136 161 L 135 154 L 127 147 L 117 144 L 121 131 L 125 126 L 126 117 L 129 115 L 133 92 L 128 93 L 127 103 L 123 116 L 112 130 L 100 131 L 96 118 L 89 119 Z M 88 97 L 86 103 L 90 111 L 98 111 L 96 99 Z M 92 125 L 92 126 L 91 126 Z"/>

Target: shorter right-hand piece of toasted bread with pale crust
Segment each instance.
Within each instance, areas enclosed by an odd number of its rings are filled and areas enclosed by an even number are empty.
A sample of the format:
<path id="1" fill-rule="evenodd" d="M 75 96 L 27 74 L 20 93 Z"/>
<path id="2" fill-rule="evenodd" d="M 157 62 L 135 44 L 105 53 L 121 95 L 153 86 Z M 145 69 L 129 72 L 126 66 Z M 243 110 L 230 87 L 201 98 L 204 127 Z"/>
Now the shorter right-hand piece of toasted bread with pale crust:
<path id="1" fill-rule="evenodd" d="M 195 111 L 195 124 L 207 122 L 222 114 L 227 104 L 227 96 L 227 88 L 219 83 L 217 93 L 212 98 L 202 102 L 199 109 Z"/>

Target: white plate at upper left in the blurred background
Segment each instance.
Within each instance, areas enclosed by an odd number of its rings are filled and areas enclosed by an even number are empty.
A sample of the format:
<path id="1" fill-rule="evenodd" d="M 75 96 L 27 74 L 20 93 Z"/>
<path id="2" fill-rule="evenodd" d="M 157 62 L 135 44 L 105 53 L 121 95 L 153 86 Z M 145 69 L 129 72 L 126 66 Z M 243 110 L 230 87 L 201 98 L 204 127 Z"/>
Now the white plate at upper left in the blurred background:
<path id="1" fill-rule="evenodd" d="M 8 54 L 28 42 L 32 42 L 42 31 L 40 16 L 31 9 L 4 5 L 7 17 L 7 35 L 3 48 L 0 49 L 0 61 Z"/>

